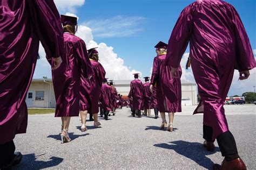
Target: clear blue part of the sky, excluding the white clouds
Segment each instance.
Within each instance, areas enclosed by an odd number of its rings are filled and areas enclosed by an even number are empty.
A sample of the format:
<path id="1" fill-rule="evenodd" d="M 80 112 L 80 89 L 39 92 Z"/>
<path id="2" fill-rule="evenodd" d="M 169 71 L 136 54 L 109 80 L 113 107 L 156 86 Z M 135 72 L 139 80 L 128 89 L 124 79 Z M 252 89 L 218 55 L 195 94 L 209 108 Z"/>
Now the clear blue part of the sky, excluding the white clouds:
<path id="1" fill-rule="evenodd" d="M 124 37 L 95 37 L 97 42 L 105 42 L 114 48 L 125 64 L 140 70 L 143 75 L 150 74 L 152 59 L 155 55 L 154 45 L 159 40 L 169 40 L 174 24 L 188 4 L 188 0 L 87 0 L 78 8 L 79 22 L 107 19 L 116 16 L 143 17 L 137 25 L 140 31 Z M 256 1 L 227 1 L 238 10 L 250 38 L 252 48 L 256 48 Z M 118 23 L 115 23 L 118 24 Z M 93 33 L 93 30 L 92 30 Z M 187 49 L 188 52 L 188 49 Z"/>

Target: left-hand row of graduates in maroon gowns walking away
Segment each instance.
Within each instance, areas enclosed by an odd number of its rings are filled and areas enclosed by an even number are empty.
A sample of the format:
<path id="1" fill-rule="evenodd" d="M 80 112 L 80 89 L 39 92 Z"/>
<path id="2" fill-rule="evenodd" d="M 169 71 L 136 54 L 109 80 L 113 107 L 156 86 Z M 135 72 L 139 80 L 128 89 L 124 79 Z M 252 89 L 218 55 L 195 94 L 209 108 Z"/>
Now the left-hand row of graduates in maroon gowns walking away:
<path id="1" fill-rule="evenodd" d="M 52 67 L 56 98 L 55 117 L 61 117 L 62 143 L 68 142 L 70 118 L 81 116 L 81 130 L 86 131 L 86 116 L 93 114 L 98 121 L 101 108 L 117 107 L 114 87 L 104 84 L 105 70 L 98 62 L 96 48 L 87 51 L 85 42 L 75 36 L 77 18 L 59 15 L 51 1 L 3 0 L 0 11 L 0 168 L 9 169 L 21 162 L 22 154 L 15 153 L 13 139 L 25 133 L 28 109 L 25 98 L 38 59 L 41 41 L 46 59 Z M 111 90 L 109 98 L 107 89 Z"/>

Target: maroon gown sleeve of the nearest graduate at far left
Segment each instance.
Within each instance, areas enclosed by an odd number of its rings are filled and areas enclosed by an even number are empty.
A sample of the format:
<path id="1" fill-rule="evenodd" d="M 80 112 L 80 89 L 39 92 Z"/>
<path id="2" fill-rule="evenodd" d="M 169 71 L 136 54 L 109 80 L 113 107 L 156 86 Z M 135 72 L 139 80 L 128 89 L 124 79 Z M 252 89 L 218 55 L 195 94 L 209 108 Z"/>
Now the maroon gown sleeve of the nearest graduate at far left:
<path id="1" fill-rule="evenodd" d="M 48 59 L 64 52 L 62 23 L 53 0 L 29 0 L 30 15 Z"/>

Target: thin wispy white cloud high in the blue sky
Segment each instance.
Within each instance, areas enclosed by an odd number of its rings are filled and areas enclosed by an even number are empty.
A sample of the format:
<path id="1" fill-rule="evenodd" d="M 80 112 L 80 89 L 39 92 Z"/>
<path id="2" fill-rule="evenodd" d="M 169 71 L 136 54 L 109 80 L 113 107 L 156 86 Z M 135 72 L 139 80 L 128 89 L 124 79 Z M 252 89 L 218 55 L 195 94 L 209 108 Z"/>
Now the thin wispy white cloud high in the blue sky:
<path id="1" fill-rule="evenodd" d="M 84 25 L 92 29 L 95 37 L 127 37 L 143 31 L 143 29 L 140 28 L 140 24 L 142 24 L 144 20 L 144 17 L 116 16 L 104 20 L 89 20 L 85 22 Z"/>

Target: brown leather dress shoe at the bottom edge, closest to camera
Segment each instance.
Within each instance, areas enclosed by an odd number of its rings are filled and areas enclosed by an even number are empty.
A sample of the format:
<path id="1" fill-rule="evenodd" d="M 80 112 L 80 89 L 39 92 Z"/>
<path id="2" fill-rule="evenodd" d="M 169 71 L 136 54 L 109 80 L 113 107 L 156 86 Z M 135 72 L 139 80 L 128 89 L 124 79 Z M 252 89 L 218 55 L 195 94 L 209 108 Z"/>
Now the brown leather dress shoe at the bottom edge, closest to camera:
<path id="1" fill-rule="evenodd" d="M 241 158 L 234 159 L 232 161 L 223 160 L 222 164 L 214 164 L 214 170 L 246 170 L 244 161 Z"/>

